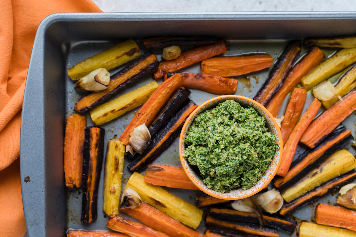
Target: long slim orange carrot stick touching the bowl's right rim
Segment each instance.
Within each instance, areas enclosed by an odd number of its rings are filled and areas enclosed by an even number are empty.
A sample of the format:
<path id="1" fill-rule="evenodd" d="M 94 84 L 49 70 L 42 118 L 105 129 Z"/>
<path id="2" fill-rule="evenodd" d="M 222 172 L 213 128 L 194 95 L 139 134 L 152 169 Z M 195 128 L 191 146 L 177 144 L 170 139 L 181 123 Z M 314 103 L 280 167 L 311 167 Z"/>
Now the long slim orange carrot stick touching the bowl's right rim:
<path id="1" fill-rule="evenodd" d="M 309 126 L 309 124 L 312 122 L 314 119 L 316 113 L 318 113 L 318 110 L 321 106 L 320 101 L 317 98 L 314 98 L 312 104 L 310 104 L 308 110 L 303 114 L 302 118 L 300 118 L 299 122 L 297 125 L 295 125 L 295 128 L 292 131 L 292 134 L 290 134 L 286 145 L 283 147 L 283 156 L 281 160 L 281 165 L 278 168 L 277 174 L 279 176 L 286 176 L 290 164 L 292 163 L 293 156 L 295 153 L 295 149 L 297 149 L 297 145 L 299 142 L 300 137 L 304 133 L 305 129 Z"/>

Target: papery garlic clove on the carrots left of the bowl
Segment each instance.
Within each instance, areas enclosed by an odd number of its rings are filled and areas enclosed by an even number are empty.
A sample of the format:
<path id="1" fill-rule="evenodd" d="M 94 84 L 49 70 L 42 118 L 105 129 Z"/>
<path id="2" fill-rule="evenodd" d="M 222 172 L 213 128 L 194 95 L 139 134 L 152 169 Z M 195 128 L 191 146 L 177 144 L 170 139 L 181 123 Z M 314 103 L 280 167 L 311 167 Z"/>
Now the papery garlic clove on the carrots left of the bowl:
<path id="1" fill-rule="evenodd" d="M 130 145 L 132 146 L 133 150 L 139 154 L 143 153 L 143 150 L 145 150 L 146 147 L 150 145 L 150 142 L 151 134 L 146 127 L 146 124 L 141 124 L 140 126 L 134 128 L 130 133 Z"/>

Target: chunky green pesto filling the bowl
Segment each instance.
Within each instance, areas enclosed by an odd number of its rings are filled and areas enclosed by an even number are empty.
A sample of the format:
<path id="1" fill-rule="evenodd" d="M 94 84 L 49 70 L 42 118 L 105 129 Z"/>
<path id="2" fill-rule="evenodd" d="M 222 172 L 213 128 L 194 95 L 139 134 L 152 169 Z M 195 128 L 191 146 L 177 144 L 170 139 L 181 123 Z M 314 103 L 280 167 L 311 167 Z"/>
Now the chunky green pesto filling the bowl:
<path id="1" fill-rule="evenodd" d="M 265 173 L 279 146 L 253 107 L 227 100 L 200 113 L 188 129 L 185 157 L 208 188 L 248 189 Z"/>

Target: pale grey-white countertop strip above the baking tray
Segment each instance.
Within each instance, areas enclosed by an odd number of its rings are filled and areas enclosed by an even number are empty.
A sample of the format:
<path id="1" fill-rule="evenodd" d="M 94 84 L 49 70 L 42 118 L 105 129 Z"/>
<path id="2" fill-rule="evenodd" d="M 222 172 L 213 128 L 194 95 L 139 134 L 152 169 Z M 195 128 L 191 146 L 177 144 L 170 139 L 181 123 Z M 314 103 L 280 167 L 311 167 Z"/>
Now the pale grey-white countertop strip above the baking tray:
<path id="1" fill-rule="evenodd" d="M 356 11 L 355 0 L 93 0 L 104 12 Z"/>

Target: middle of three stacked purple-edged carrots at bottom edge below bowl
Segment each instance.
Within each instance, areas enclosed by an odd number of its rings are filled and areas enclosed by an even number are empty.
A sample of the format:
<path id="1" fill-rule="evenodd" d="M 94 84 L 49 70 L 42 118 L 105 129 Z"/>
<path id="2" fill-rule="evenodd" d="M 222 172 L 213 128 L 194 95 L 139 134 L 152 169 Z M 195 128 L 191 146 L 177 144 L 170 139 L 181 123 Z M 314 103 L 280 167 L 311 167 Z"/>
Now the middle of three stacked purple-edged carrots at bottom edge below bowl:
<path id="1" fill-rule="evenodd" d="M 215 217 L 212 217 L 211 215 L 208 215 L 206 217 L 205 223 L 207 225 L 213 225 L 220 228 L 242 231 L 251 235 L 278 237 L 278 232 L 276 229 L 270 227 L 261 227 L 260 225 L 248 222 L 219 220 Z"/>

